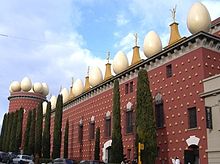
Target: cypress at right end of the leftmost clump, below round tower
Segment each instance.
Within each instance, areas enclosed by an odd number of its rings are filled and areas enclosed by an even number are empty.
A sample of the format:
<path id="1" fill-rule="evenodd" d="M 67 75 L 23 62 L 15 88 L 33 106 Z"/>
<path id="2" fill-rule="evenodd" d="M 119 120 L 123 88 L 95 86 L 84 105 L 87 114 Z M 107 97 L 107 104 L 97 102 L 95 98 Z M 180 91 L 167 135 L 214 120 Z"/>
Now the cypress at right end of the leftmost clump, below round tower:
<path id="1" fill-rule="evenodd" d="M 21 141 L 22 141 L 23 113 L 24 113 L 24 109 L 20 108 L 18 112 L 18 121 L 17 121 L 17 128 L 16 128 L 15 152 L 17 153 L 20 151 Z"/>

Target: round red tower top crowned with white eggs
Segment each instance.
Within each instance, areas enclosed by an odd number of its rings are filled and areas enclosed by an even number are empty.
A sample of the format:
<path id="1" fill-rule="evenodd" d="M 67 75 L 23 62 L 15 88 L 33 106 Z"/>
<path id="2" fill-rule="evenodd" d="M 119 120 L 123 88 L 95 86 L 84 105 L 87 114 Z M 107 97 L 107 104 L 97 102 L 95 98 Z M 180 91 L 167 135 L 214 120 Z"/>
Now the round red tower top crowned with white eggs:
<path id="1" fill-rule="evenodd" d="M 46 83 L 36 82 L 32 85 L 31 79 L 28 77 L 23 78 L 21 82 L 13 81 L 9 88 L 9 112 L 23 108 L 26 113 L 37 108 L 39 103 L 46 101 L 49 92 Z"/>

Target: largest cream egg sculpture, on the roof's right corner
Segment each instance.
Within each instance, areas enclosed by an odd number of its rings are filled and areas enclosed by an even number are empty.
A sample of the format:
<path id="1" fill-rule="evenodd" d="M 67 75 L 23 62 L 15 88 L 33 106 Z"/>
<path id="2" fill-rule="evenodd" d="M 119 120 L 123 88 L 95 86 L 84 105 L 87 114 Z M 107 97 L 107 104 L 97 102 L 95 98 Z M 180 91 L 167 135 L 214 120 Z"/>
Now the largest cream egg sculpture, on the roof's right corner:
<path id="1" fill-rule="evenodd" d="M 192 34 L 199 31 L 209 31 L 211 17 L 209 11 L 201 2 L 194 3 L 190 8 L 187 16 L 187 27 Z"/>

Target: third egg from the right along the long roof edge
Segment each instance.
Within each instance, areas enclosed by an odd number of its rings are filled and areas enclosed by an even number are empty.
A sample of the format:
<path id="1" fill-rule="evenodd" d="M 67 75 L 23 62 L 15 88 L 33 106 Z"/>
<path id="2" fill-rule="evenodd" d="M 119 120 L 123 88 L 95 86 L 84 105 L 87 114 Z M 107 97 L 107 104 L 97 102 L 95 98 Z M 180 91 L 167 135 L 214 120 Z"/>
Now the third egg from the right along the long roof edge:
<path id="1" fill-rule="evenodd" d="M 113 66 L 113 71 L 116 74 L 124 71 L 128 67 L 127 56 L 122 51 L 118 51 L 118 53 L 114 57 L 112 66 Z"/>

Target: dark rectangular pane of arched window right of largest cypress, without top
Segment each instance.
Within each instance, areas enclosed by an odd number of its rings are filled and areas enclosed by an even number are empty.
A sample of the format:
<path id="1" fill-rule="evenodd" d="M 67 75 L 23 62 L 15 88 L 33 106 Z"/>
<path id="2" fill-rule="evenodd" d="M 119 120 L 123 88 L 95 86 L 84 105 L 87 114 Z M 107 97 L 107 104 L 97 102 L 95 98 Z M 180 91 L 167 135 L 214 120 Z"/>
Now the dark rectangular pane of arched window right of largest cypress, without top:
<path id="1" fill-rule="evenodd" d="M 155 114 L 156 114 L 157 128 L 163 128 L 164 127 L 163 102 L 160 102 L 155 105 Z"/>

